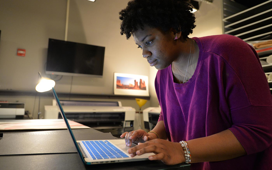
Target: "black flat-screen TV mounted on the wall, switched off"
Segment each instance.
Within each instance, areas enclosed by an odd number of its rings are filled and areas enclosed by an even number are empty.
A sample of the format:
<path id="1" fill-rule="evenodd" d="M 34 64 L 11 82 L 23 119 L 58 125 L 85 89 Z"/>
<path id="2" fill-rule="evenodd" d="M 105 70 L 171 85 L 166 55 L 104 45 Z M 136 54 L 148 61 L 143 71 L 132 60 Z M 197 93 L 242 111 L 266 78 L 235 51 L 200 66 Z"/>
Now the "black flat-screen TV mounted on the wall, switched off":
<path id="1" fill-rule="evenodd" d="M 104 52 L 105 47 L 50 38 L 46 74 L 101 77 Z"/>

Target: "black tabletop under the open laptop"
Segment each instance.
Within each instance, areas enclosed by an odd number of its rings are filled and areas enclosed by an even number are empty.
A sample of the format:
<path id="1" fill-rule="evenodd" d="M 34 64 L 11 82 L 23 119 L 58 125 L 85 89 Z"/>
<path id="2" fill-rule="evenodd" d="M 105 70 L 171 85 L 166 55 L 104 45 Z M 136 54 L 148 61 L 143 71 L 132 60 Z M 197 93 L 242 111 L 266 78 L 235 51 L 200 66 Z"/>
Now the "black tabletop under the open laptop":
<path id="1" fill-rule="evenodd" d="M 73 129 L 76 140 L 116 139 L 94 129 Z M 190 169 L 189 164 L 164 165 L 161 161 L 136 161 L 84 166 L 68 130 L 3 132 L 0 169 Z"/>

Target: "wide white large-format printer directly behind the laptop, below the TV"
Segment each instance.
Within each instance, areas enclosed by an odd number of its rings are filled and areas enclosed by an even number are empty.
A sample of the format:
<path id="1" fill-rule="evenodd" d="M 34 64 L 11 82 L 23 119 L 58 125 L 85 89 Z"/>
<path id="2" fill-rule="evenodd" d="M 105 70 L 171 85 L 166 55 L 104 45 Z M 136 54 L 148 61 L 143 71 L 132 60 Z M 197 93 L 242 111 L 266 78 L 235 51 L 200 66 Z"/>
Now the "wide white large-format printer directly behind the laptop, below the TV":
<path id="1" fill-rule="evenodd" d="M 135 109 L 122 107 L 120 101 L 72 101 L 60 100 L 67 119 L 94 129 L 133 130 Z M 56 101 L 44 106 L 45 119 L 62 119 Z"/>

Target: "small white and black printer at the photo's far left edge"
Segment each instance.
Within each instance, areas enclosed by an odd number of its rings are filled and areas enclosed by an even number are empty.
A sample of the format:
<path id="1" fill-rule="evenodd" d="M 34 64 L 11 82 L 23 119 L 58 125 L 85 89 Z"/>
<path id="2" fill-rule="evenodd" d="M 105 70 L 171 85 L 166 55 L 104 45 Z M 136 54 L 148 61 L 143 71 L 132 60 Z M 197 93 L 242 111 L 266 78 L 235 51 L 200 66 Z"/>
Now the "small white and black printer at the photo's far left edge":
<path id="1" fill-rule="evenodd" d="M 23 118 L 25 103 L 0 102 L 0 118 Z"/>

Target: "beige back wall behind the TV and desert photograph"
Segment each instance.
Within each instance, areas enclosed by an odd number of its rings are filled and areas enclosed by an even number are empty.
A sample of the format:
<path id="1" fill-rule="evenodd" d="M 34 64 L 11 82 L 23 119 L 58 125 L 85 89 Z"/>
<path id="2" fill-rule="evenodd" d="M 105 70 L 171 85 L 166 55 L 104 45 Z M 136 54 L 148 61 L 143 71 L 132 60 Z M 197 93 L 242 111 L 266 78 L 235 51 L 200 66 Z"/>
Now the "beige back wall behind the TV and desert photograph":
<path id="1" fill-rule="evenodd" d="M 221 2 L 202 2 L 195 13 L 196 25 L 193 36 L 207 36 L 222 33 Z M 1 0 L 0 1 L 0 90 L 35 91 L 38 72 L 45 75 L 48 38 L 64 39 L 66 0 Z M 150 67 L 142 58 L 141 50 L 133 38 L 126 40 L 120 35 L 119 11 L 128 0 L 70 0 L 68 41 L 106 47 L 103 78 L 73 77 L 72 93 L 113 94 L 113 73 L 131 73 L 149 76 L 150 101 L 146 107 L 157 107 L 154 89 L 156 68 Z M 26 57 L 16 55 L 17 48 L 26 49 Z M 69 93 L 71 76 L 63 76 L 56 82 L 57 92 Z M 61 98 L 67 100 L 68 98 Z M 26 110 L 38 113 L 38 97 L 4 96 L 0 101 L 26 103 Z M 107 100 L 71 98 L 71 100 Z M 34 105 L 35 101 L 35 105 Z M 138 108 L 135 100 L 121 100 L 123 106 Z M 44 105 L 51 105 L 52 97 L 41 97 L 41 111 Z"/>

